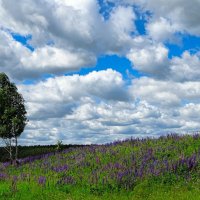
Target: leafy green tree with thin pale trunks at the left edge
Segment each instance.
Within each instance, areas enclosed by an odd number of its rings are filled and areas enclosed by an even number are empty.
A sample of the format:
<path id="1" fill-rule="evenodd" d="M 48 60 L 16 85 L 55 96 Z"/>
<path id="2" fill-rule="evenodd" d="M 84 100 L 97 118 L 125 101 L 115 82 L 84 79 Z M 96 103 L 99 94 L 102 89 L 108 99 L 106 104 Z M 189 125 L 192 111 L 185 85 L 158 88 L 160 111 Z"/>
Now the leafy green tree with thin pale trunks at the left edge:
<path id="1" fill-rule="evenodd" d="M 0 138 L 6 144 L 10 161 L 18 159 L 18 137 L 24 131 L 27 117 L 24 99 L 5 73 L 0 73 Z M 13 144 L 15 155 L 13 158 Z"/>

